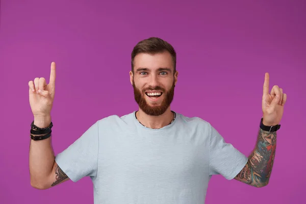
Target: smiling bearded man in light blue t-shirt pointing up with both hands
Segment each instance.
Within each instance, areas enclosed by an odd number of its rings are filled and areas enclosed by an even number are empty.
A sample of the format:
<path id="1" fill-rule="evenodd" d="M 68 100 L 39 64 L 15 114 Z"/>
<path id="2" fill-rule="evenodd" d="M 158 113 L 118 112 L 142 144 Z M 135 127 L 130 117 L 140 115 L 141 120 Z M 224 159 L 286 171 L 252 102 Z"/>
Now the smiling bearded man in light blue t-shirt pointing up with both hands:
<path id="1" fill-rule="evenodd" d="M 90 176 L 94 203 L 204 203 L 214 174 L 264 187 L 268 184 L 286 93 L 266 73 L 256 148 L 247 158 L 207 121 L 170 110 L 177 83 L 176 54 L 160 38 L 140 41 L 132 52 L 130 81 L 139 110 L 96 121 L 56 157 L 50 142 L 55 63 L 50 81 L 29 82 L 34 115 L 31 185 L 47 189 Z M 260 121 L 259 121 L 260 122 Z"/>

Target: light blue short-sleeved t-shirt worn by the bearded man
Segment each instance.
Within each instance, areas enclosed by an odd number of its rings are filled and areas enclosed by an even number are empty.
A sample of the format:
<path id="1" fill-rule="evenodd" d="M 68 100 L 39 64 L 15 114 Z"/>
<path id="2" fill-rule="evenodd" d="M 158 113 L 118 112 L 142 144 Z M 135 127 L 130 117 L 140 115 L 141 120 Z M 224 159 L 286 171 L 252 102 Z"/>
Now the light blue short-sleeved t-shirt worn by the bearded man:
<path id="1" fill-rule="evenodd" d="M 198 117 L 150 129 L 133 112 L 96 121 L 56 162 L 73 182 L 91 177 L 95 204 L 203 204 L 211 176 L 233 179 L 247 157 Z"/>

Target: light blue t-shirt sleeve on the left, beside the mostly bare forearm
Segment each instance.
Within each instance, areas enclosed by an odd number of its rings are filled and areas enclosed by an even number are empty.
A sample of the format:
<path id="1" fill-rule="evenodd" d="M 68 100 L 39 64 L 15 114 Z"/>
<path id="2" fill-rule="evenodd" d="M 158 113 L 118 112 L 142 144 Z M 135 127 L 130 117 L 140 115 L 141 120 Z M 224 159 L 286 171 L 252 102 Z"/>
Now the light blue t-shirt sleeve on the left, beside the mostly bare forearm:
<path id="1" fill-rule="evenodd" d="M 98 121 L 55 158 L 58 166 L 73 182 L 96 176 L 98 160 Z"/>

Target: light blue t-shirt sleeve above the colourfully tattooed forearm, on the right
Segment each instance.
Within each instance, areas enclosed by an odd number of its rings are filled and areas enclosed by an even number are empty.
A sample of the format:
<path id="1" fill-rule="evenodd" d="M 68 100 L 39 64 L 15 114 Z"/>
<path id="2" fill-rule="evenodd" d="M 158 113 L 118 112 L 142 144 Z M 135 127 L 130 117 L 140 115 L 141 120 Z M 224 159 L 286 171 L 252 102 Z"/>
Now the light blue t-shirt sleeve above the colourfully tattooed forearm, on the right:
<path id="1" fill-rule="evenodd" d="M 210 175 L 221 174 L 232 180 L 247 163 L 247 157 L 232 144 L 226 143 L 218 131 L 211 126 L 210 134 Z"/>

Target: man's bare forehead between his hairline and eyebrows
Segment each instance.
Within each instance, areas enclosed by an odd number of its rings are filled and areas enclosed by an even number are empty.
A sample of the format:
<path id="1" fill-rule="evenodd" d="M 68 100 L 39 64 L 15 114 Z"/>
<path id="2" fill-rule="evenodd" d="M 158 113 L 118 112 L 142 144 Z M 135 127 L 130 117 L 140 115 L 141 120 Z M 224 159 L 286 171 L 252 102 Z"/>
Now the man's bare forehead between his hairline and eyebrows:
<path id="1" fill-rule="evenodd" d="M 140 53 L 136 55 L 134 58 L 134 70 L 140 67 L 151 70 L 161 67 L 174 69 L 172 57 L 168 52 L 157 54 Z"/>

